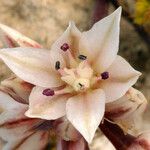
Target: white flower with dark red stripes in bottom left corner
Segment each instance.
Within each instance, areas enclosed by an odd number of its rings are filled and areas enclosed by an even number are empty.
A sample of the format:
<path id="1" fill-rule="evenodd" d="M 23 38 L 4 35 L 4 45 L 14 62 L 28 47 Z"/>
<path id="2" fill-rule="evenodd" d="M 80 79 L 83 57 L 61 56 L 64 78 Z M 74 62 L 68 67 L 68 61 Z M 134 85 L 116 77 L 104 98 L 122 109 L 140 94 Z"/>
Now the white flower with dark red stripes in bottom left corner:
<path id="1" fill-rule="evenodd" d="M 25 88 L 24 88 L 25 89 Z M 26 102 L 26 100 L 25 100 Z M 41 150 L 48 143 L 49 132 L 35 130 L 44 120 L 24 115 L 28 105 L 23 104 L 16 93 L 0 86 L 0 149 Z M 32 142 L 36 144 L 31 144 Z"/>

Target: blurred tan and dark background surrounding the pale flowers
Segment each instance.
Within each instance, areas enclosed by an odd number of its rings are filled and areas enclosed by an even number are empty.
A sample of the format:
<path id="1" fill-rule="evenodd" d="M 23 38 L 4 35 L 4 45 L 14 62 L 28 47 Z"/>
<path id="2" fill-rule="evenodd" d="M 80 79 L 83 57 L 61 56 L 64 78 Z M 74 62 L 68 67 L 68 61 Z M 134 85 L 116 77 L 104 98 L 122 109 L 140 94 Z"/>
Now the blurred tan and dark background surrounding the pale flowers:
<path id="1" fill-rule="evenodd" d="M 150 0 L 0 0 L 0 22 L 38 41 L 46 48 L 66 29 L 70 20 L 88 30 L 118 6 L 123 7 L 120 51 L 130 64 L 142 72 L 135 85 L 150 100 Z M 7 76 L 1 65 L 0 78 Z M 142 130 L 150 129 L 150 104 L 144 114 Z M 107 145 L 106 148 L 104 148 Z M 96 135 L 92 150 L 113 150 Z"/>

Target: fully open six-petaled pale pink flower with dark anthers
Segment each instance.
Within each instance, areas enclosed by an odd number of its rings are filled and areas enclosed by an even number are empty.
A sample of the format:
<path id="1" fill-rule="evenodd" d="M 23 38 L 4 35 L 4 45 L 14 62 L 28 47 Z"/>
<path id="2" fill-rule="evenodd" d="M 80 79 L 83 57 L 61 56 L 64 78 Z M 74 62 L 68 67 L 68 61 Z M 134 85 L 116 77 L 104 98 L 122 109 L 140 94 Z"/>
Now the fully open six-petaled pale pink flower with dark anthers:
<path id="1" fill-rule="evenodd" d="M 22 80 L 35 85 L 29 97 L 31 118 L 66 116 L 91 143 L 105 103 L 122 97 L 140 73 L 117 55 L 121 8 L 81 33 L 73 22 L 52 45 L 1 49 L 0 58 Z"/>

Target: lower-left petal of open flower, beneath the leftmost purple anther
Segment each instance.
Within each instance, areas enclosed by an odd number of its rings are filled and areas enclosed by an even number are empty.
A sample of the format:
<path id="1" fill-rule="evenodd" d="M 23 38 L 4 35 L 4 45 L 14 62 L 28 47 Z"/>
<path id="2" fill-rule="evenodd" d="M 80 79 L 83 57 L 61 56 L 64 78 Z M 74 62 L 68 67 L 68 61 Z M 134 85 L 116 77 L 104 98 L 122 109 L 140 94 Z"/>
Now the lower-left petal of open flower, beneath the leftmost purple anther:
<path id="1" fill-rule="evenodd" d="M 46 120 L 57 119 L 66 114 L 66 101 L 69 95 L 45 96 L 44 88 L 33 88 L 29 97 L 29 110 L 25 113 L 30 118 Z"/>

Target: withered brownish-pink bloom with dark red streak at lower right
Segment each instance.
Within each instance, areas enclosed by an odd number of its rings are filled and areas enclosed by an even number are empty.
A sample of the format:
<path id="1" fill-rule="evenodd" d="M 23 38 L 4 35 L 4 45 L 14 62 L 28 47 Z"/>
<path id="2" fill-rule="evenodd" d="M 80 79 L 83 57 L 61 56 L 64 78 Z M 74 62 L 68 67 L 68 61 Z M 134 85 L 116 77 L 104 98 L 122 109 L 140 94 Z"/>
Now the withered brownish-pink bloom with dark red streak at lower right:
<path id="1" fill-rule="evenodd" d="M 117 123 L 125 132 L 136 131 L 146 105 L 147 100 L 144 95 L 130 88 L 122 98 L 106 104 L 105 117 Z"/>

